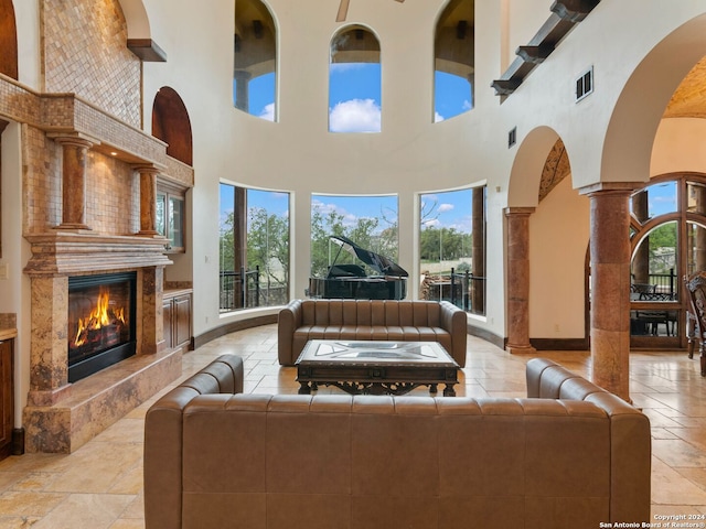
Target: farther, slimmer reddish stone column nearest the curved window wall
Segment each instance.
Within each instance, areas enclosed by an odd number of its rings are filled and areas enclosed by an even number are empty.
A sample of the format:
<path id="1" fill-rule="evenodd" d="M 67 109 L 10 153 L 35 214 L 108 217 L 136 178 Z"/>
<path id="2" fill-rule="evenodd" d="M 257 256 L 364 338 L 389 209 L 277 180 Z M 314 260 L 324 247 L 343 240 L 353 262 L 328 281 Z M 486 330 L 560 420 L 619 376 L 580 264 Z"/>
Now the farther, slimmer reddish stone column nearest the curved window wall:
<path id="1" fill-rule="evenodd" d="M 530 344 L 530 215 L 534 207 L 509 207 L 507 344 L 510 353 L 535 353 Z"/>

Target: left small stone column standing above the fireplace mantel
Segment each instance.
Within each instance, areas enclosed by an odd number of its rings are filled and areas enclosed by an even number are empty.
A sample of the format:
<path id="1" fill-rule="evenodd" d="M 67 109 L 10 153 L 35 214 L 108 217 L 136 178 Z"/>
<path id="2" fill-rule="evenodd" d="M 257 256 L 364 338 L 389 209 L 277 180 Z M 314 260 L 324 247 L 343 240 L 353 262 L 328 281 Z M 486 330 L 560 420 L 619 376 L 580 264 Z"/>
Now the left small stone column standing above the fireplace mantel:
<path id="1" fill-rule="evenodd" d="M 63 148 L 61 229 L 90 229 L 86 225 L 86 154 L 93 142 L 77 137 L 56 137 Z"/>

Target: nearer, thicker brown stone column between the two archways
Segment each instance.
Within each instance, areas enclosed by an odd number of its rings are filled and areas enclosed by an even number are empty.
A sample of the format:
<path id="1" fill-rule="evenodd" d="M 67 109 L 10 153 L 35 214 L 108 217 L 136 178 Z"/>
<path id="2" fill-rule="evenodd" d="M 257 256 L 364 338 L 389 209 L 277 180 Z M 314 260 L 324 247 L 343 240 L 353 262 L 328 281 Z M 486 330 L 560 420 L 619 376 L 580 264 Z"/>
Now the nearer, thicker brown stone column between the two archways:
<path id="1" fill-rule="evenodd" d="M 582 190 L 590 198 L 592 380 L 630 401 L 630 183 Z"/>

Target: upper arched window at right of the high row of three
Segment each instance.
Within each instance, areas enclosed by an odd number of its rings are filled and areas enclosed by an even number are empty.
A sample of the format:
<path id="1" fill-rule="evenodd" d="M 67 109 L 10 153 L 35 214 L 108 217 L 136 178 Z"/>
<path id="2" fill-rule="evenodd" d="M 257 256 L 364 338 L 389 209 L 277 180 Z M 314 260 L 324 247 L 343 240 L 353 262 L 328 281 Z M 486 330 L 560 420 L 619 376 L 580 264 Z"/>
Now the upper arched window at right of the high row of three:
<path id="1" fill-rule="evenodd" d="M 435 37 L 434 121 L 473 108 L 474 0 L 450 0 Z"/>

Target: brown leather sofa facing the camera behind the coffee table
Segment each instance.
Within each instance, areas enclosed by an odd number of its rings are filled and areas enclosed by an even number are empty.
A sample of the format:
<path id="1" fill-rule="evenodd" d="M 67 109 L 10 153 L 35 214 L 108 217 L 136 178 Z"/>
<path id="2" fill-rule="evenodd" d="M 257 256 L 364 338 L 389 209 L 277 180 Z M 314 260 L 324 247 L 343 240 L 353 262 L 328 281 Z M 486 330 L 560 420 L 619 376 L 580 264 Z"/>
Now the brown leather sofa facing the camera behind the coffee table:
<path id="1" fill-rule="evenodd" d="M 468 319 L 448 301 L 293 300 L 279 312 L 279 363 L 291 366 L 310 339 L 439 342 L 466 366 Z"/>

